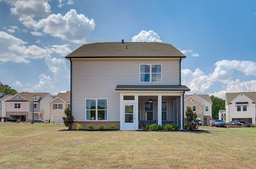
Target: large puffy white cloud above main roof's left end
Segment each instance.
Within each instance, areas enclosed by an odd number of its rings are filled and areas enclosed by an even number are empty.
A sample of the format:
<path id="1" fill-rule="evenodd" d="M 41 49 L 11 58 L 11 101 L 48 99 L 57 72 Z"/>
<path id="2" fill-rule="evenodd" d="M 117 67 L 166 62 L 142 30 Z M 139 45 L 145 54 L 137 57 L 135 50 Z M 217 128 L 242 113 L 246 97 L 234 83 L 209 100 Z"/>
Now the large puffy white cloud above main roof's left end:
<path id="1" fill-rule="evenodd" d="M 77 14 L 76 10 L 70 10 L 64 16 L 61 14 L 51 14 L 45 19 L 38 21 L 34 20 L 31 16 L 22 16 L 19 20 L 28 28 L 42 29 L 46 34 L 73 43 L 84 43 L 86 37 L 95 27 L 93 19 L 88 19 L 83 14 Z"/>

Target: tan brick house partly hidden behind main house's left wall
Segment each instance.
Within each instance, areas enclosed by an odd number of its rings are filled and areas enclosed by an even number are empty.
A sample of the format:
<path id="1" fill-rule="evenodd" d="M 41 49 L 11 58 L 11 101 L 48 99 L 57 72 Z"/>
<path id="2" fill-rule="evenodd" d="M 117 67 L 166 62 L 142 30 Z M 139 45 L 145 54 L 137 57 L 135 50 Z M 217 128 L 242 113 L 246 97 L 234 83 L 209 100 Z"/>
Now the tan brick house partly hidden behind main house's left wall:
<path id="1" fill-rule="evenodd" d="M 50 101 L 50 122 L 63 123 L 66 108 L 70 108 L 70 93 L 59 93 Z"/>

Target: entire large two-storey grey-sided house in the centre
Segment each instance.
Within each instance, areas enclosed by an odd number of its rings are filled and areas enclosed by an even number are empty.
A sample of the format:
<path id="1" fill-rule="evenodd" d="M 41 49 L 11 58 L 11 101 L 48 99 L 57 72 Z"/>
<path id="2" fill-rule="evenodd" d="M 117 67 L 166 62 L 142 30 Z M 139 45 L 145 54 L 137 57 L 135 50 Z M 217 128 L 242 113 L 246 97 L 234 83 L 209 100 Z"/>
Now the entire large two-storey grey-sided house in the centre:
<path id="1" fill-rule="evenodd" d="M 86 128 L 138 130 L 147 123 L 184 126 L 179 50 L 158 42 L 103 42 L 79 47 L 71 62 L 71 109 Z"/>

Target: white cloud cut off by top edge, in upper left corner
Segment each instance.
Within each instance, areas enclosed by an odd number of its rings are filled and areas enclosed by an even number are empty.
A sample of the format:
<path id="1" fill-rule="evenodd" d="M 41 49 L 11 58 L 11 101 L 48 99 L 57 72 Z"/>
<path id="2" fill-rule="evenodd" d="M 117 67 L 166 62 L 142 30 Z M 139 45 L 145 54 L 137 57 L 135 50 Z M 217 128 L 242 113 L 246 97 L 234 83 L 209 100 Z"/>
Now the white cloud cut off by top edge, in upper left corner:
<path id="1" fill-rule="evenodd" d="M 11 13 L 18 16 L 42 17 L 50 14 L 50 5 L 46 0 L 3 0 L 11 5 Z"/>

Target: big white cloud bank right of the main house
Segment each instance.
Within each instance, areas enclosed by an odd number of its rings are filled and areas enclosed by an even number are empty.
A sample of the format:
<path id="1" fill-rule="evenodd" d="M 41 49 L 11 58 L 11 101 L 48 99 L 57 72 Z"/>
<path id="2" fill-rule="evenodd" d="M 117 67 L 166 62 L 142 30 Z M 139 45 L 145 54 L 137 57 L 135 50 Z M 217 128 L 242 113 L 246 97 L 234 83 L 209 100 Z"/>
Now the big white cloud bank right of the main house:
<path id="1" fill-rule="evenodd" d="M 253 61 L 221 60 L 215 63 L 213 73 L 205 74 L 200 69 L 192 72 L 189 69 L 181 70 L 182 83 L 188 86 L 192 92 L 203 93 L 214 87 L 216 82 L 223 86 L 223 90 L 211 93 L 215 96 L 224 97 L 225 92 L 256 91 L 256 80 L 241 81 L 233 80 L 234 71 L 237 70 L 245 75 L 256 76 L 256 63 Z"/>

